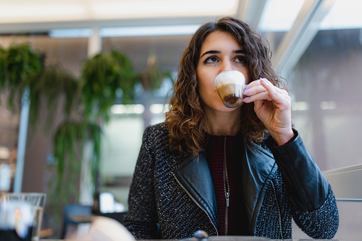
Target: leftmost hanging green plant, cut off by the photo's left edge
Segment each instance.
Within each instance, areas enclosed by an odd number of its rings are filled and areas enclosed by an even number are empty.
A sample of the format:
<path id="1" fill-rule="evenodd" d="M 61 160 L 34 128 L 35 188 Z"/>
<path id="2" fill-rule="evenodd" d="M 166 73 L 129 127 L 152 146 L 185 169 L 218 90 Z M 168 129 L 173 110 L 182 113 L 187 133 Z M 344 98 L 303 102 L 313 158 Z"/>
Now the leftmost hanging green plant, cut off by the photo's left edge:
<path id="1" fill-rule="evenodd" d="M 28 44 L 11 45 L 1 52 L 1 90 L 9 90 L 8 105 L 14 109 L 14 96 L 23 95 L 29 81 L 41 73 L 44 55 Z"/>

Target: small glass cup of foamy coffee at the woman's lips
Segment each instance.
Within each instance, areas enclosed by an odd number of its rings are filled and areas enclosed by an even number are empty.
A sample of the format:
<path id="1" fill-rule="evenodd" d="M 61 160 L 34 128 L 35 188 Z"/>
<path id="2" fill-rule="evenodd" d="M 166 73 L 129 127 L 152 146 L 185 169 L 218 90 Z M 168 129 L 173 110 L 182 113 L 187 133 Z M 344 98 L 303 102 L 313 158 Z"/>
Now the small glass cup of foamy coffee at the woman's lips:
<path id="1" fill-rule="evenodd" d="M 225 107 L 236 108 L 243 105 L 245 76 L 238 70 L 225 70 L 215 77 L 216 90 Z"/>

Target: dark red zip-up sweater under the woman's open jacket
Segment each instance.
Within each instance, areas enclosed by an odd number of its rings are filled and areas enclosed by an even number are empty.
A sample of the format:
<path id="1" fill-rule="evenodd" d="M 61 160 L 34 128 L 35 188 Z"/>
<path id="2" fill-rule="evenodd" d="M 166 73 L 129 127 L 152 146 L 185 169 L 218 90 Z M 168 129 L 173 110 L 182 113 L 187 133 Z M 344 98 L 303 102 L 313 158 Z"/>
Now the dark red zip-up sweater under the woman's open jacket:
<path id="1" fill-rule="evenodd" d="M 241 163 L 244 149 L 241 136 L 206 136 L 205 154 L 213 178 L 216 203 L 218 205 L 219 235 L 225 235 L 226 199 L 224 189 L 224 141 L 228 181 L 230 186 L 230 205 L 228 208 L 228 235 L 250 235 L 243 205 Z"/>

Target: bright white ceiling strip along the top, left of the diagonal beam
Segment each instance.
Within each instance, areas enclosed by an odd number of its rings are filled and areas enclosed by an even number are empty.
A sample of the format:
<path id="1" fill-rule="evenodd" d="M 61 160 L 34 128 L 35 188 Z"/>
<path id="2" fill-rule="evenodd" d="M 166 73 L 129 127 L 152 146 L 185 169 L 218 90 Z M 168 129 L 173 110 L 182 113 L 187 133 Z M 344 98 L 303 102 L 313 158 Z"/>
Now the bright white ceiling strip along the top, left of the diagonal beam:
<path id="1" fill-rule="evenodd" d="M 198 24 L 227 15 L 245 19 L 251 11 L 262 11 L 265 2 L 266 0 L 0 0 L 0 31 L 11 33 L 47 31 L 53 28 Z M 256 14 L 260 15 L 261 13 Z"/>

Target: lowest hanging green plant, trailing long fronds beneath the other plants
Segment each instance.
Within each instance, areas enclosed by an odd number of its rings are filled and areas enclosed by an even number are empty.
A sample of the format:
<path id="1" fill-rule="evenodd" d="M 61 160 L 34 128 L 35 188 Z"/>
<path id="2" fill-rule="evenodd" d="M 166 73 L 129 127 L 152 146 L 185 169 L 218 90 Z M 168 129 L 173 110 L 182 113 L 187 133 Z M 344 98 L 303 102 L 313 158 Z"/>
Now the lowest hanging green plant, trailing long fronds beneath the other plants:
<path id="1" fill-rule="evenodd" d="M 50 186 L 50 200 L 53 201 L 55 217 L 59 217 L 60 207 L 64 203 L 78 202 L 80 190 L 80 171 L 82 167 L 83 147 L 90 141 L 93 145 L 90 160 L 92 183 L 100 166 L 100 147 L 102 129 L 94 122 L 65 121 L 60 124 L 53 137 L 53 149 L 56 167 L 55 183 Z M 62 193 L 59 196 L 59 193 Z"/>

